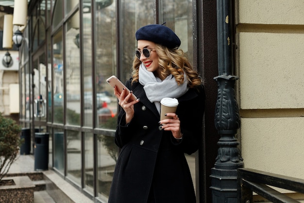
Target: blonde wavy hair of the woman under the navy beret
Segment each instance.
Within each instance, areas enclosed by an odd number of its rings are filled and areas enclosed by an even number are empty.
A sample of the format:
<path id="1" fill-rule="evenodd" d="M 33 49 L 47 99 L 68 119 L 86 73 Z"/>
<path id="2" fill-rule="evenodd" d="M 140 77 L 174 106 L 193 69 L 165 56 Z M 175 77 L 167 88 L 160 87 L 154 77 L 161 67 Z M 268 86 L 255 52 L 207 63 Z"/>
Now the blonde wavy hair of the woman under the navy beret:
<path id="1" fill-rule="evenodd" d="M 202 77 L 193 70 L 187 55 L 181 49 L 169 49 L 160 44 L 155 44 L 158 55 L 158 64 L 163 77 L 172 74 L 178 85 L 184 83 L 184 71 L 188 80 L 188 87 L 193 88 L 202 84 Z M 135 56 L 132 68 L 132 83 L 138 82 L 138 71 L 141 61 Z"/>

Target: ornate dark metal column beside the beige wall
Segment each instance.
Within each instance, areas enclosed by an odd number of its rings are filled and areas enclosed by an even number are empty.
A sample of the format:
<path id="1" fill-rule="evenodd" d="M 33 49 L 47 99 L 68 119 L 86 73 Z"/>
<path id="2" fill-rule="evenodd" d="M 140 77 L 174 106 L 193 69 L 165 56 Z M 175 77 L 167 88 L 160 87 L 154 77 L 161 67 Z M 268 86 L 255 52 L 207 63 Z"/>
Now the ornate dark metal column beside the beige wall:
<path id="1" fill-rule="evenodd" d="M 240 127 L 235 97 L 237 76 L 233 72 L 233 0 L 217 0 L 218 25 L 218 82 L 215 126 L 220 134 L 218 156 L 211 171 L 213 203 L 237 203 L 236 169 L 243 167 L 235 135 Z"/>

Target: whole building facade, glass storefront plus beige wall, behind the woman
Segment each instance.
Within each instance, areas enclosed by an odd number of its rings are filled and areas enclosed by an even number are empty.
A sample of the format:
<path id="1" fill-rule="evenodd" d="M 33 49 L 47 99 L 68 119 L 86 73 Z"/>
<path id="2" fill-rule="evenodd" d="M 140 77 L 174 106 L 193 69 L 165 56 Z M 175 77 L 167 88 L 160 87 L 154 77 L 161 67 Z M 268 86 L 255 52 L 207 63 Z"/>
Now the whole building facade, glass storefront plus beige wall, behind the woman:
<path id="1" fill-rule="evenodd" d="M 230 2 L 241 121 L 236 138 L 244 166 L 304 179 L 304 3 Z M 19 122 L 32 129 L 32 146 L 37 129 L 50 133 L 49 168 L 95 202 L 107 202 L 119 152 L 113 140 L 119 109 L 106 78 L 130 78 L 136 30 L 164 22 L 205 81 L 203 142 L 187 161 L 197 202 L 210 203 L 220 139 L 217 1 L 31 0 L 19 74 L 2 72 L 5 114 L 15 98 L 9 96 L 12 78 L 19 84 Z"/>

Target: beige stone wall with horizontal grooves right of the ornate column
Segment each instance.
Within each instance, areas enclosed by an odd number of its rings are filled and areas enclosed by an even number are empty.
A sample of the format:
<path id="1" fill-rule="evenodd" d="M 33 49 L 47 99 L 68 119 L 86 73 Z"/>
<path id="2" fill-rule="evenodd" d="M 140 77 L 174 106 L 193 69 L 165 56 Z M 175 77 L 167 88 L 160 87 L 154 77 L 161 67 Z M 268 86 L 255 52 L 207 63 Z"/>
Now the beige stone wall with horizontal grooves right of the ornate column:
<path id="1" fill-rule="evenodd" d="M 245 167 L 304 179 L 304 2 L 236 0 Z"/>

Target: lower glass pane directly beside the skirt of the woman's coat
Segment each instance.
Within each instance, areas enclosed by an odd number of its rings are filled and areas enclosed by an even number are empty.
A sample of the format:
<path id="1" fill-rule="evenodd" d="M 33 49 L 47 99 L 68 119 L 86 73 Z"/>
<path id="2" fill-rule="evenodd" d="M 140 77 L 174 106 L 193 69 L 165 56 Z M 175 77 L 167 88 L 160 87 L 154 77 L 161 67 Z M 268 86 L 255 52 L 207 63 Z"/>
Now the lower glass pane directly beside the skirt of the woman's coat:
<path id="1" fill-rule="evenodd" d="M 118 147 L 114 137 L 98 135 L 98 197 L 107 202 L 113 179 L 114 168 L 118 158 Z"/>

